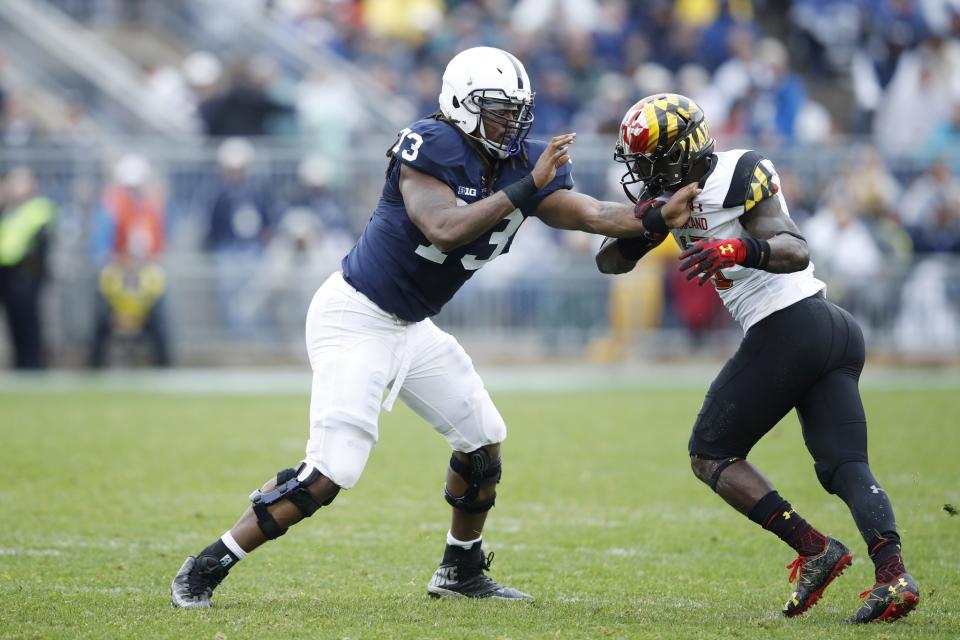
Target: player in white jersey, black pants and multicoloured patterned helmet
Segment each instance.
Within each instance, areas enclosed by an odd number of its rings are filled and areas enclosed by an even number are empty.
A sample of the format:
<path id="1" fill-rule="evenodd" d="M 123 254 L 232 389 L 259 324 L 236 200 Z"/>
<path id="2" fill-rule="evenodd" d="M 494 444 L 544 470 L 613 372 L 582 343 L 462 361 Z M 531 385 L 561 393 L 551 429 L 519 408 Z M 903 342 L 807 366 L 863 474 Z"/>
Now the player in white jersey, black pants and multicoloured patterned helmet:
<path id="1" fill-rule="evenodd" d="M 600 270 L 629 271 L 672 234 L 683 249 L 680 269 L 687 279 L 711 282 L 745 333 L 693 426 L 694 474 L 797 552 L 787 567 L 797 586 L 783 613 L 803 613 L 850 564 L 850 551 L 804 520 L 746 459 L 796 409 L 817 478 L 849 507 L 875 566 L 876 584 L 848 621 L 906 615 L 920 591 L 904 567 L 890 500 L 867 462 L 858 389 L 863 334 L 849 313 L 824 297 L 826 287 L 813 275 L 773 164 L 755 151 L 715 151 L 698 105 L 669 93 L 627 111 L 615 158 L 626 165 L 621 183 L 639 202 L 645 232 L 605 240 L 597 254 Z M 665 206 L 676 204 L 674 194 L 690 185 L 697 186 L 692 207 Z"/>

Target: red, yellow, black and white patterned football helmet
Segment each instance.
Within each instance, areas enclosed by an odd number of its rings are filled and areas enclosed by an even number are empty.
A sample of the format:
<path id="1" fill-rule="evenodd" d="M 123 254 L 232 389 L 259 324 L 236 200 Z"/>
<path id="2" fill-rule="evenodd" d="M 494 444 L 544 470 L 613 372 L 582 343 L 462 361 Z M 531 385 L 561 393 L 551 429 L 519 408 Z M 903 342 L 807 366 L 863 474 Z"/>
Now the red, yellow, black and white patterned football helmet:
<path id="1" fill-rule="evenodd" d="M 620 184 L 636 202 L 639 196 L 631 185 L 642 182 L 643 197 L 656 197 L 680 184 L 715 146 L 696 102 L 676 93 L 657 93 L 627 110 L 613 158 L 627 166 Z"/>

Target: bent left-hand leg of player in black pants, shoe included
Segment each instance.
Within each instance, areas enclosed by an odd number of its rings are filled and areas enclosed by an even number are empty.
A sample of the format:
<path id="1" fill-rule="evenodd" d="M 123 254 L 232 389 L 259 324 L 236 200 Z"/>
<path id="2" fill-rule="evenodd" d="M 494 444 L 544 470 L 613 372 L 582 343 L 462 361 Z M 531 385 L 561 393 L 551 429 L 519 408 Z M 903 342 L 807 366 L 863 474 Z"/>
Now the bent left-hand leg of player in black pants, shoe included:
<path id="1" fill-rule="evenodd" d="M 694 474 L 728 504 L 797 552 L 791 580 L 798 588 L 784 613 L 813 606 L 850 563 L 847 548 L 796 513 L 745 458 L 793 408 L 822 370 L 823 348 L 806 332 L 810 301 L 760 321 L 711 384 L 690 438 Z M 815 315 L 815 314 L 814 314 Z"/>

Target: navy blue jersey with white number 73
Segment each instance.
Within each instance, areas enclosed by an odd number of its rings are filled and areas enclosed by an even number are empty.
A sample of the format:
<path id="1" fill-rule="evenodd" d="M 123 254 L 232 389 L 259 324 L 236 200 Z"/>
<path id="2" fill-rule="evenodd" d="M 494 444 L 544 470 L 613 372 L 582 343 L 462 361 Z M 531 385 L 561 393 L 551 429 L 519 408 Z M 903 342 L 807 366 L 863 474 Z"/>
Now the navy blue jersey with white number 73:
<path id="1" fill-rule="evenodd" d="M 514 210 L 490 231 L 462 247 L 444 253 L 427 240 L 410 220 L 400 193 L 400 164 L 446 183 L 457 202 L 467 205 L 521 179 L 533 169 L 546 143 L 523 144 L 527 162 L 500 162 L 493 184 L 486 184 L 486 165 L 459 131 L 446 122 L 426 119 L 400 132 L 394 162 L 380 202 L 363 234 L 343 259 L 343 277 L 381 309 L 404 320 L 436 315 L 453 294 L 487 262 L 510 250 L 520 225 L 557 189 L 573 187 L 570 164 L 522 210 Z"/>

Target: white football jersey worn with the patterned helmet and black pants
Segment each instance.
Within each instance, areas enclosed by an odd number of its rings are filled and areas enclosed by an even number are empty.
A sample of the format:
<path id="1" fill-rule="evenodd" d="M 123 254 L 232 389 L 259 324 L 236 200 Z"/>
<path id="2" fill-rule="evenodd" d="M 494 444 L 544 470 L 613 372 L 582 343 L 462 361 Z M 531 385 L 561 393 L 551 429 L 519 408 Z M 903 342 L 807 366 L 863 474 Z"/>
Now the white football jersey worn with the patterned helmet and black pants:
<path id="1" fill-rule="evenodd" d="M 748 236 L 740 224 L 740 216 L 766 198 L 779 198 L 781 208 L 787 213 L 780 177 L 772 162 L 746 149 L 721 151 L 715 156 L 703 191 L 693 201 L 687 224 L 670 230 L 682 248 L 704 238 Z M 658 199 L 665 202 L 670 195 L 664 194 Z M 813 277 L 813 262 L 795 273 L 770 273 L 736 265 L 722 269 L 714 276 L 713 283 L 744 332 L 771 313 L 826 288 Z"/>

